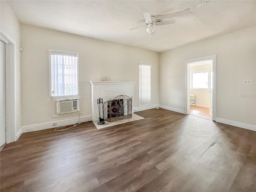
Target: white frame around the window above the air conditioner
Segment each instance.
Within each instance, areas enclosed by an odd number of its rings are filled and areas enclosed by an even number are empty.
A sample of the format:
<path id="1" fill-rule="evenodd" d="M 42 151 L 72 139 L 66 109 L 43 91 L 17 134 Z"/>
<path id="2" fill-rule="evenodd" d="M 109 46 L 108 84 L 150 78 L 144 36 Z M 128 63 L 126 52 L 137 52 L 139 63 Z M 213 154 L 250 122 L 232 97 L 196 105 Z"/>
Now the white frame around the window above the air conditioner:
<path id="1" fill-rule="evenodd" d="M 77 55 L 77 92 L 73 95 L 52 95 L 52 59 L 51 59 L 51 52 L 58 52 L 63 54 L 72 54 Z M 55 88 L 54 88 L 55 90 Z M 68 52 L 68 51 L 62 51 L 62 50 L 53 50 L 49 49 L 49 96 L 50 97 L 56 97 L 56 98 L 77 98 L 79 96 L 79 53 L 77 52 Z"/>

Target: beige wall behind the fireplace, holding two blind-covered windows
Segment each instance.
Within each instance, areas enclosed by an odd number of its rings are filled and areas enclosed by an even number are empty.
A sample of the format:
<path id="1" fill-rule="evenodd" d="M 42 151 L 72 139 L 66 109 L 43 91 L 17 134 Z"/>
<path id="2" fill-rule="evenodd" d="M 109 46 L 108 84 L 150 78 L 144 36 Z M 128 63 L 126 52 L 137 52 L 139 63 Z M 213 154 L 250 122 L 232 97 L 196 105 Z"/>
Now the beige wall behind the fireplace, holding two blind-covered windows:
<path id="1" fill-rule="evenodd" d="M 71 117 L 52 118 L 52 98 L 49 97 L 48 50 L 79 53 L 80 95 L 82 115 L 91 115 L 91 85 L 101 76 L 111 81 L 135 81 L 134 107 L 138 107 L 138 64 L 152 64 L 152 104 L 158 103 L 159 54 L 83 36 L 30 25 L 21 27 L 22 125 L 53 122 Z"/>

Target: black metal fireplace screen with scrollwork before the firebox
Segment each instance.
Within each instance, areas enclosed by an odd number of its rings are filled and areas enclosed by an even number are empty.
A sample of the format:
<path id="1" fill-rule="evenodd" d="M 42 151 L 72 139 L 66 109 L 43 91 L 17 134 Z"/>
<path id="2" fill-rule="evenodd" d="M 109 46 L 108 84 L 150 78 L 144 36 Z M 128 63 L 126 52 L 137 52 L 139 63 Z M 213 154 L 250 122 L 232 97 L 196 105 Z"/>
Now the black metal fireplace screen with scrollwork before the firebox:
<path id="1" fill-rule="evenodd" d="M 111 122 L 124 118 L 132 118 L 132 97 L 119 95 L 103 104 L 104 119 Z"/>

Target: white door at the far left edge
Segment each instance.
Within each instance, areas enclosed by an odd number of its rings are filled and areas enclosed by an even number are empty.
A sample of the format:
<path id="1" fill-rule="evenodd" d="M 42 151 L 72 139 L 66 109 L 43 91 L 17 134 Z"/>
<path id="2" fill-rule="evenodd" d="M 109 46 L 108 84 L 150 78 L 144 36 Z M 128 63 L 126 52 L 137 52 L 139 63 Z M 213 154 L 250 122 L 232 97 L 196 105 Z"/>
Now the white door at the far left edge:
<path id="1" fill-rule="evenodd" d="M 0 41 L 0 146 L 6 143 L 5 122 L 5 43 Z"/>

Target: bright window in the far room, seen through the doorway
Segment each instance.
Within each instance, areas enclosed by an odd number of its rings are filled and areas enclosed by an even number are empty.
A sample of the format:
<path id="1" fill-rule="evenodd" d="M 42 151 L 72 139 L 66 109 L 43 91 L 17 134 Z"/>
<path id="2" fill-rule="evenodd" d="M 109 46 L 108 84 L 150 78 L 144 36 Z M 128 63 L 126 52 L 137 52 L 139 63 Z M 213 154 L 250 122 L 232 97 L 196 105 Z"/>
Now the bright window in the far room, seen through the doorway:
<path id="1" fill-rule="evenodd" d="M 191 89 L 209 89 L 209 73 L 208 72 L 192 72 L 190 74 Z"/>

